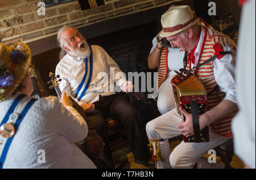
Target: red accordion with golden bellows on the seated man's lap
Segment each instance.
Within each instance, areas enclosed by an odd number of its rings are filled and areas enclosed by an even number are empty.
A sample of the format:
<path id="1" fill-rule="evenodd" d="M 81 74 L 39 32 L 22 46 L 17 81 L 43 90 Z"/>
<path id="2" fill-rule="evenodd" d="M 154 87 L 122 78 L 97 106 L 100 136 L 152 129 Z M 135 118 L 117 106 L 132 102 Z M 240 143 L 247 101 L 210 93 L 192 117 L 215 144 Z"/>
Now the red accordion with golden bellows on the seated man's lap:
<path id="1" fill-rule="evenodd" d="M 176 72 L 176 71 L 175 71 Z M 171 79 L 172 89 L 177 112 L 181 115 L 179 107 L 192 114 L 194 135 L 185 137 L 185 143 L 209 142 L 209 128 L 205 127 L 200 131 L 199 115 L 207 111 L 207 92 L 200 80 L 192 73 L 181 73 Z M 185 118 L 184 118 L 185 121 Z"/>

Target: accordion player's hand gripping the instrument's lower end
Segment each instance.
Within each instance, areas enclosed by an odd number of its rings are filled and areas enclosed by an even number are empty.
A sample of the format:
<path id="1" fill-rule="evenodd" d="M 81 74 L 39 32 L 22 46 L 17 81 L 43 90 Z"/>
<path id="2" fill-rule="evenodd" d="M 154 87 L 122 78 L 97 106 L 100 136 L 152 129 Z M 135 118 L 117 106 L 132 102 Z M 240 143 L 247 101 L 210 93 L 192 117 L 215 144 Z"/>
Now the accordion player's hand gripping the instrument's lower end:
<path id="1" fill-rule="evenodd" d="M 185 117 L 185 122 L 179 123 L 177 125 L 178 128 L 180 128 L 180 132 L 186 136 L 192 136 L 194 134 L 193 129 L 193 121 L 192 121 L 192 114 L 188 113 L 186 110 L 184 110 L 182 107 L 180 107 L 180 112 Z M 184 118 L 183 117 L 183 118 Z"/>

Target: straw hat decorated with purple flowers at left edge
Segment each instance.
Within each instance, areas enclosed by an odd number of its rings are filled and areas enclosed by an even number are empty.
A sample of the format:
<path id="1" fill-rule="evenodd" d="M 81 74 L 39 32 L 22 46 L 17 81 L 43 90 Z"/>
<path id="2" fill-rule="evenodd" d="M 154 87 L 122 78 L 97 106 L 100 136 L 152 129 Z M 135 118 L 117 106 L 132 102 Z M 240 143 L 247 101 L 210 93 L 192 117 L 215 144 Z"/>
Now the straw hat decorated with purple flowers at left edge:
<path id="1" fill-rule="evenodd" d="M 17 89 L 30 66 L 31 51 L 27 44 L 20 41 L 0 43 L 0 102 Z"/>

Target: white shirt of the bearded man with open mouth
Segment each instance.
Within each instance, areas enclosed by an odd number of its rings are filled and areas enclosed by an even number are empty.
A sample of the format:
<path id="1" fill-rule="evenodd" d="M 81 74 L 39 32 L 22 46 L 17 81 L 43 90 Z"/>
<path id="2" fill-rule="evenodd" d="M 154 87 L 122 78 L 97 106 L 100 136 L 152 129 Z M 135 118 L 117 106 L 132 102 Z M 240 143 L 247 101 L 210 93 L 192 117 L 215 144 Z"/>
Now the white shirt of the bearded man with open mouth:
<path id="1" fill-rule="evenodd" d="M 115 94 L 115 86 L 121 87 L 126 81 L 122 71 L 115 61 L 98 45 L 92 45 L 93 53 L 93 73 L 89 87 L 80 101 L 94 103 L 99 100 L 99 95 L 106 96 Z M 89 58 L 88 58 L 89 60 Z M 110 68 L 114 68 L 110 70 Z M 85 74 L 85 62 L 80 57 L 65 55 L 57 64 L 55 74 L 59 74 L 62 81 L 59 83 L 60 90 L 65 91 L 68 96 L 75 97 L 77 89 Z M 104 75 L 106 75 L 104 77 Z M 117 76 L 117 78 L 115 78 Z M 112 82 L 112 83 L 110 83 Z M 82 88 L 83 89 L 83 88 Z M 81 89 L 81 91 L 82 91 Z"/>

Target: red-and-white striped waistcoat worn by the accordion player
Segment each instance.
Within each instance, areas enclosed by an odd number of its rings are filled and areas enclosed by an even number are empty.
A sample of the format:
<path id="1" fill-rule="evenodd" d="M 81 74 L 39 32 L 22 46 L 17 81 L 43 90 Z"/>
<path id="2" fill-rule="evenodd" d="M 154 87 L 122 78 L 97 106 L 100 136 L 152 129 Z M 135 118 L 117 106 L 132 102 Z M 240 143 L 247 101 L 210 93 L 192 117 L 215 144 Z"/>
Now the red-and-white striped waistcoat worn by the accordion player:
<path id="1" fill-rule="evenodd" d="M 208 60 L 208 58 L 214 55 L 215 51 L 213 47 L 217 43 L 220 44 L 221 47 L 229 45 L 231 47 L 236 48 L 236 44 L 228 36 L 221 34 L 221 32 L 218 32 L 216 30 L 212 30 L 209 27 L 203 28 L 205 28 L 205 36 L 202 44 L 201 53 L 199 55 L 199 61 L 197 62 L 197 64 L 203 63 L 204 61 Z M 186 69 L 191 69 L 191 65 L 188 64 Z M 217 85 L 213 73 L 213 61 L 203 66 L 200 66 L 200 68 L 196 69 L 195 75 L 199 77 L 199 79 L 205 86 L 207 93 L 212 91 L 213 88 Z M 225 98 L 225 95 L 226 94 L 223 93 L 220 89 L 218 89 L 218 92 L 214 91 L 212 94 L 210 94 L 209 97 L 207 98 L 208 110 L 217 106 L 217 104 L 219 104 L 222 101 L 222 99 Z M 228 118 L 222 119 L 217 123 L 211 124 L 213 131 L 225 137 L 232 136 L 232 131 L 230 127 L 232 118 L 233 115 L 229 116 Z"/>

